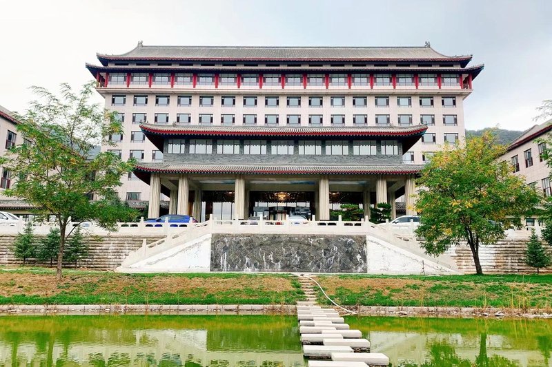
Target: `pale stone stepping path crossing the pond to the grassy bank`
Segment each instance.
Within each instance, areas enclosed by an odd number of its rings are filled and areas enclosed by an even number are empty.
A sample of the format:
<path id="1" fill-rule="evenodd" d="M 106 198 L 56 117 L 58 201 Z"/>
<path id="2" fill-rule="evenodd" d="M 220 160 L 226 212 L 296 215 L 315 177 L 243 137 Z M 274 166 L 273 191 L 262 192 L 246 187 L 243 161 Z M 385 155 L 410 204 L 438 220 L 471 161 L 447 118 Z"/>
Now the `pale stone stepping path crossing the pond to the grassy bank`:
<path id="1" fill-rule="evenodd" d="M 389 365 L 386 355 L 370 353 L 370 342 L 359 330 L 350 329 L 338 311 L 317 304 L 318 286 L 312 280 L 299 276 L 299 283 L 306 301 L 297 302 L 297 319 L 308 367 Z"/>

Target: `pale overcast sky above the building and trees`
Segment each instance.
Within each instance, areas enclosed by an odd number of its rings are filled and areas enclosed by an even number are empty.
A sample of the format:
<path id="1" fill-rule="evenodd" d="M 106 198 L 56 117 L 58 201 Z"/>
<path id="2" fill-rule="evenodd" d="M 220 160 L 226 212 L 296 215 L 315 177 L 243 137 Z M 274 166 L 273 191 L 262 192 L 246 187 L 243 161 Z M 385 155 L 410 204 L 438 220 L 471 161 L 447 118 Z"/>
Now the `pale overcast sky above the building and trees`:
<path id="1" fill-rule="evenodd" d="M 96 52 L 144 45 L 431 46 L 485 69 L 466 128 L 523 130 L 552 98 L 552 1 L 0 0 L 0 105 L 79 86 Z M 101 97 L 97 97 L 101 101 Z"/>

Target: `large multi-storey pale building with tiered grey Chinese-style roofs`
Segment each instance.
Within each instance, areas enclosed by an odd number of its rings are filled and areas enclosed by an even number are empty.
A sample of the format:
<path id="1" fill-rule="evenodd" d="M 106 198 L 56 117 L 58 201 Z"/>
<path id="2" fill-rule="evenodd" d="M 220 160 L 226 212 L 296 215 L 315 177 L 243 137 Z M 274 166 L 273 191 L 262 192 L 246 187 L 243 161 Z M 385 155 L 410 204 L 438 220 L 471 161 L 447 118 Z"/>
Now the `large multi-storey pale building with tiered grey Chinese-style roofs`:
<path id="1" fill-rule="evenodd" d="M 139 160 L 121 196 L 199 220 L 321 220 L 403 196 L 444 142 L 464 138 L 482 65 L 424 47 L 148 46 L 86 67 Z M 365 210 L 368 214 L 368 210 Z"/>

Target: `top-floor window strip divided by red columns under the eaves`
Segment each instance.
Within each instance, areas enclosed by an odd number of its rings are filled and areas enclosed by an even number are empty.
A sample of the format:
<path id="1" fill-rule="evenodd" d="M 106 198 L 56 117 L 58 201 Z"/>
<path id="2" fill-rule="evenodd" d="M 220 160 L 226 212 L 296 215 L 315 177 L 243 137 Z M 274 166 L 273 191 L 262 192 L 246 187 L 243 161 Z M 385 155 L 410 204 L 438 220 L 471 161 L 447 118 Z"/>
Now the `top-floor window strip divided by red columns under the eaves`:
<path id="1" fill-rule="evenodd" d="M 193 74 L 111 73 L 108 85 L 200 86 L 458 86 L 458 74 Z M 106 86 L 103 84 L 102 86 Z"/>

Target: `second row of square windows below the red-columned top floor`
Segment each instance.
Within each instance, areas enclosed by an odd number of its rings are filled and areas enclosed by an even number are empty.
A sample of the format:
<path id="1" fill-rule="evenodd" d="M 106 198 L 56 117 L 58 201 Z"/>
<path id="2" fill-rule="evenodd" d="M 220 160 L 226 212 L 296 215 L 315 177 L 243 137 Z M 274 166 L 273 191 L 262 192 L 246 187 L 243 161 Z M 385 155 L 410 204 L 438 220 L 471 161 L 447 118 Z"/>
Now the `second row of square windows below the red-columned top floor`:
<path id="1" fill-rule="evenodd" d="M 126 122 L 125 114 L 117 113 L 117 119 L 122 123 Z M 132 114 L 132 123 L 141 124 L 141 123 L 155 123 L 158 125 L 168 125 L 172 123 L 174 125 L 213 125 L 215 120 L 215 115 L 213 114 L 198 114 L 197 120 L 192 119 L 192 114 L 176 114 L 176 118 L 170 118 L 170 114 L 153 114 L 153 120 L 148 120 L 148 114 L 146 113 L 135 113 Z M 238 115 L 240 116 L 240 115 Z M 346 115 L 345 114 L 332 114 L 330 117 L 331 125 L 346 125 Z M 457 126 L 458 117 L 455 114 L 444 114 L 440 115 L 442 118 L 443 126 Z M 264 118 L 264 122 L 263 122 Z M 282 116 L 285 118 L 286 125 L 302 125 L 302 115 L 300 114 L 286 114 Z M 348 118 L 351 118 L 350 116 Z M 267 126 L 278 126 L 280 125 L 280 115 L 279 114 L 242 114 L 241 115 L 242 125 L 267 125 Z M 414 123 L 414 118 L 412 114 L 397 114 L 397 118 L 393 123 L 399 126 L 410 126 Z M 235 114 L 221 114 L 220 115 L 220 125 L 235 125 L 236 124 L 236 115 Z M 368 125 L 368 114 L 353 114 L 352 116 L 353 125 Z M 375 114 L 373 123 L 377 126 L 389 126 L 391 123 L 390 114 Z M 417 123 L 417 121 L 416 121 Z M 421 114 L 420 115 L 420 124 L 433 126 L 435 125 L 435 115 L 434 114 Z M 308 115 L 308 125 L 311 126 L 322 126 L 324 125 L 324 115 L 322 114 L 309 114 Z"/>

